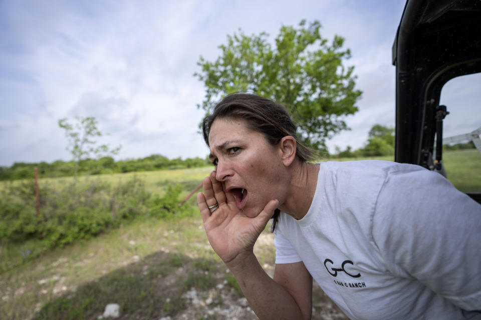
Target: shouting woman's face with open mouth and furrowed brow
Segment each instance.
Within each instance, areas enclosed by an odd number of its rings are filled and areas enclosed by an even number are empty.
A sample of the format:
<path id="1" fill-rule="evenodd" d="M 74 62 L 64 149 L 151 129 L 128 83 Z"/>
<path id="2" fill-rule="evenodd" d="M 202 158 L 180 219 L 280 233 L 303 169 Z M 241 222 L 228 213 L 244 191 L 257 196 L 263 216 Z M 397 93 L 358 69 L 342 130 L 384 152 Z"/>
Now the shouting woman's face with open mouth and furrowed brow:
<path id="1" fill-rule="evenodd" d="M 272 199 L 283 197 L 285 167 L 279 146 L 253 131 L 242 119 L 216 118 L 209 132 L 216 179 L 235 197 L 237 208 L 257 216 Z"/>

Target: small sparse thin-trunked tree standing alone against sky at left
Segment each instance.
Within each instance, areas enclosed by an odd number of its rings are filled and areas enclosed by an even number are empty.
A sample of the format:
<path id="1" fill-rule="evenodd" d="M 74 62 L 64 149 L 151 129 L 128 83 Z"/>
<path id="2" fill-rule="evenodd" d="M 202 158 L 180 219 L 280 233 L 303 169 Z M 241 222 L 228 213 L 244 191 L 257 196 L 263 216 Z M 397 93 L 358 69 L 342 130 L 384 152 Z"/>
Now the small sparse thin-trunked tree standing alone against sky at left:
<path id="1" fill-rule="evenodd" d="M 67 150 L 72 153 L 75 162 L 74 179 L 77 182 L 79 163 L 90 156 L 108 156 L 119 153 L 121 146 L 111 149 L 107 144 L 97 144 L 95 137 L 102 136 L 102 132 L 97 128 L 97 119 L 93 116 L 75 117 L 76 122 L 71 124 L 68 118 L 59 119 L 59 126 L 65 129 L 69 145 Z"/>

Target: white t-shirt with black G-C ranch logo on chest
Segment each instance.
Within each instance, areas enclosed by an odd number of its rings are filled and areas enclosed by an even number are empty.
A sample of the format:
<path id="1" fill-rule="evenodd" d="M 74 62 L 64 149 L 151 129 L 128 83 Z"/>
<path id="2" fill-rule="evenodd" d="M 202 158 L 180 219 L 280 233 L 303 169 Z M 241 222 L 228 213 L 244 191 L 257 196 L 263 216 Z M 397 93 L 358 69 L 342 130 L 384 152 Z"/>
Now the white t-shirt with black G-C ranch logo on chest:
<path id="1" fill-rule="evenodd" d="M 320 163 L 309 211 L 274 234 L 276 263 L 303 261 L 350 318 L 481 318 L 481 205 L 439 173 Z"/>

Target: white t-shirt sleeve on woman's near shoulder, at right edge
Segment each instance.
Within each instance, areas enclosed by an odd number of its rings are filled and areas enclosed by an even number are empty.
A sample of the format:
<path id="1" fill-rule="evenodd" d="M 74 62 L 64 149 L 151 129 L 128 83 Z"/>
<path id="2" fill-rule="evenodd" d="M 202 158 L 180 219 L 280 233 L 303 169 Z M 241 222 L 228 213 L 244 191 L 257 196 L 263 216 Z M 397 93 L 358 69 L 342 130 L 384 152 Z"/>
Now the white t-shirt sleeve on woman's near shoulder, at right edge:
<path id="1" fill-rule="evenodd" d="M 479 203 L 439 173 L 393 172 L 372 221 L 391 272 L 417 279 L 462 309 L 481 309 Z"/>

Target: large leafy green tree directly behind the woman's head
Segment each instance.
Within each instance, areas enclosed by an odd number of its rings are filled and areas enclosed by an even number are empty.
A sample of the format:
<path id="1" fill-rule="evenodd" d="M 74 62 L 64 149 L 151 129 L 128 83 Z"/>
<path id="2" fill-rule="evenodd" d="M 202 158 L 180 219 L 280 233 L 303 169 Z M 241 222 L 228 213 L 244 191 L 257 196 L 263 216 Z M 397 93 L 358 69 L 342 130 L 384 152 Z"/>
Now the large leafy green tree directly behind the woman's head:
<path id="1" fill-rule="evenodd" d="M 282 26 L 275 45 L 268 34 L 227 35 L 215 61 L 200 56 L 200 72 L 206 92 L 202 104 L 206 113 L 222 96 L 236 91 L 252 91 L 285 105 L 298 124 L 300 138 L 314 148 L 325 148 L 326 138 L 348 129 L 344 117 L 355 113 L 361 95 L 355 89 L 353 66 L 344 66 L 349 49 L 344 38 L 328 42 L 320 33 L 319 21 L 299 27 Z"/>

